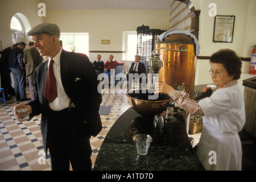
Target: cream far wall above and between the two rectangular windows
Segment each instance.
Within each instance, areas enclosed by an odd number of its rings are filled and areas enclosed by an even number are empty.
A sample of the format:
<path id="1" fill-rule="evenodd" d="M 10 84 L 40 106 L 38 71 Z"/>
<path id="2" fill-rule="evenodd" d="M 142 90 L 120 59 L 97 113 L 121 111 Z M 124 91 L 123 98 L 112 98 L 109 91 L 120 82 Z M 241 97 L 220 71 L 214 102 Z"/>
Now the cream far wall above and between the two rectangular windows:
<path id="1" fill-rule="evenodd" d="M 56 23 L 61 32 L 89 32 L 90 51 L 122 51 L 123 31 L 136 31 L 137 27 L 168 30 L 168 10 L 48 10 L 46 22 Z M 101 44 L 110 40 L 110 44 Z M 89 53 L 93 61 L 99 53 Z M 109 55 L 122 62 L 122 53 L 100 53 L 105 62 Z"/>

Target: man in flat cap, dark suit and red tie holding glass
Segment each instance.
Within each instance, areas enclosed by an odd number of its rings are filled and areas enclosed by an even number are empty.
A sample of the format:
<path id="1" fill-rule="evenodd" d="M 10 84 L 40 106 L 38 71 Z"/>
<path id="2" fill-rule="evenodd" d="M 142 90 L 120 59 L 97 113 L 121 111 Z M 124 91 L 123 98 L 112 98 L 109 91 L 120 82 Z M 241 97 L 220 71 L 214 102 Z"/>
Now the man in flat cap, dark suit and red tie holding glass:
<path id="1" fill-rule="evenodd" d="M 64 51 L 56 24 L 42 23 L 28 33 L 40 56 L 48 56 L 35 69 L 35 100 L 14 107 L 28 108 L 30 119 L 42 114 L 41 131 L 44 149 L 51 155 L 52 170 L 91 170 L 90 136 L 102 129 L 98 110 L 102 101 L 97 91 L 97 75 L 88 57 Z"/>

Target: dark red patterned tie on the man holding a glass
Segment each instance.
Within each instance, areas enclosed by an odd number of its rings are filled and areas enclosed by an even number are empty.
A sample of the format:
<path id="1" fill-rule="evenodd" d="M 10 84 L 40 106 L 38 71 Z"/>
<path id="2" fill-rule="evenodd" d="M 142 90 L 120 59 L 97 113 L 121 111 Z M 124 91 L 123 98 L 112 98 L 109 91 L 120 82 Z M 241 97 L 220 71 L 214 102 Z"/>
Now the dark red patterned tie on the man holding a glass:
<path id="1" fill-rule="evenodd" d="M 46 85 L 44 87 L 44 97 L 46 97 L 50 103 L 57 97 L 57 86 L 53 73 L 53 63 L 54 61 L 51 59 L 46 76 Z"/>

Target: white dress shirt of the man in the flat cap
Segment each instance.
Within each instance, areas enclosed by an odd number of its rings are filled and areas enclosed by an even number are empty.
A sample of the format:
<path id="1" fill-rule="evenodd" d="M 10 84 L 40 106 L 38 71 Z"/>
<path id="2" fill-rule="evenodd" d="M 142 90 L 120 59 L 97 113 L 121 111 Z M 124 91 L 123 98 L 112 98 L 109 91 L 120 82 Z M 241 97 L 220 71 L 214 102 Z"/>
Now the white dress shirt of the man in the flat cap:
<path id="1" fill-rule="evenodd" d="M 56 85 L 57 85 L 57 98 L 52 103 L 49 103 L 49 107 L 52 110 L 60 111 L 69 106 L 70 99 L 68 98 L 67 94 L 64 91 L 62 82 L 61 82 L 61 76 L 60 76 L 60 55 L 61 55 L 62 49 L 60 49 L 60 52 L 57 53 L 55 57 L 53 57 L 53 72 L 54 76 L 56 78 Z M 47 67 L 49 68 L 49 63 Z"/>

